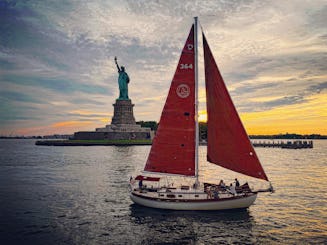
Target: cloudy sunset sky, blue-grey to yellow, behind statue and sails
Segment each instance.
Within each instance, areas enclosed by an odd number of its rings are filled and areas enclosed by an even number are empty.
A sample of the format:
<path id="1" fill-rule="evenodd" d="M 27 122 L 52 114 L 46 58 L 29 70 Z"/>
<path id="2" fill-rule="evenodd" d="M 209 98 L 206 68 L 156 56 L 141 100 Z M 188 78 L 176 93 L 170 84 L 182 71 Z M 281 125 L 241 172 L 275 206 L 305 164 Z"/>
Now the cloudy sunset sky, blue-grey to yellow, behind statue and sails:
<path id="1" fill-rule="evenodd" d="M 249 134 L 327 135 L 327 0 L 0 0 L 0 135 L 110 124 L 115 56 L 159 121 L 194 16 Z"/>

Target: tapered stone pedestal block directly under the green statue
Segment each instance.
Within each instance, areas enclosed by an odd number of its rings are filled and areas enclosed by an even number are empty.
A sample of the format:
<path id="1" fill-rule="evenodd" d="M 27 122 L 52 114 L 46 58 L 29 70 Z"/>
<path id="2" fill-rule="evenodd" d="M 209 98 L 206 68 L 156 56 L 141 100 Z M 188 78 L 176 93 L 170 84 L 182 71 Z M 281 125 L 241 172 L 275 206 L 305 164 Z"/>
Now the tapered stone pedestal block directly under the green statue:
<path id="1" fill-rule="evenodd" d="M 131 100 L 116 100 L 114 106 L 114 116 L 112 117 L 112 125 L 121 125 L 121 124 L 136 124 L 133 107 Z"/>

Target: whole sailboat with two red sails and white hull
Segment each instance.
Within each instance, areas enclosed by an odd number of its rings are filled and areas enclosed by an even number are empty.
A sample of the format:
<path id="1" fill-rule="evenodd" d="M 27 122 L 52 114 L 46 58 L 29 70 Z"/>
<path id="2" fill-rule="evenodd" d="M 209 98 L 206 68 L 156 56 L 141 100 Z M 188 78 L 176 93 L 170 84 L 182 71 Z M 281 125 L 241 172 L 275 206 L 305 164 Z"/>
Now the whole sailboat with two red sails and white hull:
<path id="1" fill-rule="evenodd" d="M 171 210 L 247 208 L 259 191 L 246 183 L 221 186 L 199 181 L 198 19 L 189 32 L 164 105 L 144 171 L 130 179 L 131 200 Z M 268 181 L 231 100 L 202 31 L 207 103 L 207 161 Z M 181 178 L 172 186 L 165 176 Z M 193 184 L 183 183 L 190 177 Z M 164 184 L 162 184 L 164 182 Z M 191 181 L 192 183 L 192 181 Z M 271 188 L 261 191 L 271 191 Z"/>

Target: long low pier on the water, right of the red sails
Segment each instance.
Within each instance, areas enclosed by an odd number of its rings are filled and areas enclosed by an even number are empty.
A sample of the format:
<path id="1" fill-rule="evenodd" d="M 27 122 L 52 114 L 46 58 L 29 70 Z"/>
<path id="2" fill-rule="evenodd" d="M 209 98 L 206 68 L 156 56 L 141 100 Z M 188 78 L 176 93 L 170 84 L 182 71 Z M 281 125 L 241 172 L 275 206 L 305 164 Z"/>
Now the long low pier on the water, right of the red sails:
<path id="1" fill-rule="evenodd" d="M 307 149 L 313 148 L 313 141 L 295 140 L 295 141 L 252 141 L 254 147 L 277 147 L 285 149 Z"/>

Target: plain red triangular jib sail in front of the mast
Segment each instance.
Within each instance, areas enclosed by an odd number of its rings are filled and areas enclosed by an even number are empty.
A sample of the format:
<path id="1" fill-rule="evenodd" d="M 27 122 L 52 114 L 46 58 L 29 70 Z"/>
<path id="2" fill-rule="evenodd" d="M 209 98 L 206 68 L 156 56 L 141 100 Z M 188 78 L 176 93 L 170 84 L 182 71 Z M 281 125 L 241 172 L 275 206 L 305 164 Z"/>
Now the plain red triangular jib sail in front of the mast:
<path id="1" fill-rule="evenodd" d="M 209 162 L 268 180 L 203 36 Z"/>

